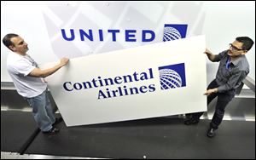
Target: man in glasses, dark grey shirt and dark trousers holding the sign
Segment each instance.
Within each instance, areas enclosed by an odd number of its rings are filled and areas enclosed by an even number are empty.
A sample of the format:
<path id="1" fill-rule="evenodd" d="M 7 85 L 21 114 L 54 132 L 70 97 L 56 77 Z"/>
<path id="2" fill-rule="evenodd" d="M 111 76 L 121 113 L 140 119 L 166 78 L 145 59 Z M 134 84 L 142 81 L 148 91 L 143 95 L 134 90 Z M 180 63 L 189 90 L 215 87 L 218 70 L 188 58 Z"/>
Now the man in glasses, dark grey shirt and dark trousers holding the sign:
<path id="1" fill-rule="evenodd" d="M 215 97 L 218 97 L 210 128 L 207 131 L 208 137 L 216 134 L 219 124 L 224 117 L 224 109 L 235 97 L 236 89 L 241 85 L 242 80 L 249 73 L 249 63 L 245 54 L 253 47 L 253 40 L 249 37 L 236 37 L 230 43 L 230 49 L 224 50 L 220 54 L 212 54 L 206 49 L 205 54 L 212 62 L 219 61 L 216 78 L 208 85 L 207 104 Z M 185 124 L 199 123 L 203 112 L 192 113 L 192 117 L 184 121 Z"/>

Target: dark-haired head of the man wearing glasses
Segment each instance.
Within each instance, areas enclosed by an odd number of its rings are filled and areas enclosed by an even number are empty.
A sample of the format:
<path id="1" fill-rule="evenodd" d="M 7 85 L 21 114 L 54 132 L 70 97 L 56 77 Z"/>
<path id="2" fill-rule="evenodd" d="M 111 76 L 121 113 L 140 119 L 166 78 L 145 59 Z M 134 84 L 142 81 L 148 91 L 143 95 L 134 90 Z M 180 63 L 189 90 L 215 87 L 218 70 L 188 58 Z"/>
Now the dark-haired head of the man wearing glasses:
<path id="1" fill-rule="evenodd" d="M 246 54 L 253 47 L 253 40 L 249 37 L 236 37 L 233 43 L 230 43 L 229 55 L 237 57 Z"/>

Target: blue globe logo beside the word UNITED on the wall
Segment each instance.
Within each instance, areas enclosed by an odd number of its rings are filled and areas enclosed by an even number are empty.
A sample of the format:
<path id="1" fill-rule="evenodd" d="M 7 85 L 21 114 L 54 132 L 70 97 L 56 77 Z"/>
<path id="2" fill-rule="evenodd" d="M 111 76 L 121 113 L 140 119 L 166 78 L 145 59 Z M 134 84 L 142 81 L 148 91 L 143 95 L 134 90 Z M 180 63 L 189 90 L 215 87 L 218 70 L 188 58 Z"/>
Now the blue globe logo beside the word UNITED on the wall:
<path id="1" fill-rule="evenodd" d="M 188 25 L 171 25 L 166 24 L 164 28 L 163 41 L 173 41 L 186 37 Z"/>

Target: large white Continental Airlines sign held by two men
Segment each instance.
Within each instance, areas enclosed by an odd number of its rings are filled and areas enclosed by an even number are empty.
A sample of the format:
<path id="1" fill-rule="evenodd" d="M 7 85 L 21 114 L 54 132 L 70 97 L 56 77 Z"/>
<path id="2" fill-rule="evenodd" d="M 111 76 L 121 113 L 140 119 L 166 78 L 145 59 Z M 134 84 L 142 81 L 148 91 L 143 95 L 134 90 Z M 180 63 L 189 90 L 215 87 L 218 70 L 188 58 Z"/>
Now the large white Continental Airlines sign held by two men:
<path id="1" fill-rule="evenodd" d="M 89 55 L 46 80 L 67 126 L 207 111 L 205 49 L 197 36 Z"/>

